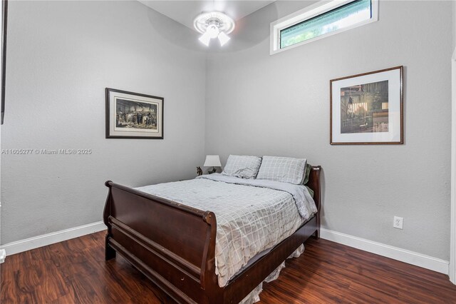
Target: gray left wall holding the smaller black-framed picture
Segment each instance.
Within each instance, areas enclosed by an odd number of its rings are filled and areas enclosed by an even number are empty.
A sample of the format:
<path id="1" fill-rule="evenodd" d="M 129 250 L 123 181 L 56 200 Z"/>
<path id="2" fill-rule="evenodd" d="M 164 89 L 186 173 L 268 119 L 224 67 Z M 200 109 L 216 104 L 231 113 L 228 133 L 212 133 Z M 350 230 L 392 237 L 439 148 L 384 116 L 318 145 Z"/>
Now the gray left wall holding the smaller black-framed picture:
<path id="1" fill-rule="evenodd" d="M 204 161 L 205 54 L 190 29 L 137 1 L 10 1 L 1 241 L 101 220 L 108 179 L 192 178 Z M 195 42 L 195 45 L 192 43 Z M 105 139 L 104 88 L 165 98 L 165 139 Z"/>

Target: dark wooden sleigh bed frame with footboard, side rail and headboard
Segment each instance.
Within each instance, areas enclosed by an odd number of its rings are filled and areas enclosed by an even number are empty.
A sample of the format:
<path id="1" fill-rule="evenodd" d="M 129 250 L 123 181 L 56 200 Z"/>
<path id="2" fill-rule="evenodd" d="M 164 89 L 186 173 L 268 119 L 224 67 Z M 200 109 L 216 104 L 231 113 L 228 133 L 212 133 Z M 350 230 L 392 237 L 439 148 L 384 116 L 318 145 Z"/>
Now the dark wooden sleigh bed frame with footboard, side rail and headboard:
<path id="1" fill-rule="evenodd" d="M 312 166 L 306 183 L 314 192 L 316 214 L 224 287 L 216 274 L 213 212 L 107 181 L 105 259 L 119 253 L 177 303 L 239 303 L 309 237 L 318 239 L 320 172 L 320 166 Z"/>

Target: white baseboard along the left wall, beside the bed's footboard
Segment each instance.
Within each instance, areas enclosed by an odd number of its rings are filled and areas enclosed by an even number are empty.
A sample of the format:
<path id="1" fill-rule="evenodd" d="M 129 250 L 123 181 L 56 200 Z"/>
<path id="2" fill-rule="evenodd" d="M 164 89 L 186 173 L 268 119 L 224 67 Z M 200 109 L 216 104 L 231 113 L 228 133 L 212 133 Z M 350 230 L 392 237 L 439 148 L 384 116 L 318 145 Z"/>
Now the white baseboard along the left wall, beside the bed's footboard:
<path id="1" fill-rule="evenodd" d="M 53 243 L 62 242 L 71 238 L 78 238 L 80 236 L 105 230 L 106 226 L 103 221 L 83 225 L 75 228 L 69 228 L 53 233 L 38 235 L 33 238 L 26 238 L 25 240 L 18 240 L 16 242 L 7 243 L 0 246 L 0 249 L 6 250 L 6 256 L 15 253 L 21 253 L 26 250 L 31 250 Z"/>

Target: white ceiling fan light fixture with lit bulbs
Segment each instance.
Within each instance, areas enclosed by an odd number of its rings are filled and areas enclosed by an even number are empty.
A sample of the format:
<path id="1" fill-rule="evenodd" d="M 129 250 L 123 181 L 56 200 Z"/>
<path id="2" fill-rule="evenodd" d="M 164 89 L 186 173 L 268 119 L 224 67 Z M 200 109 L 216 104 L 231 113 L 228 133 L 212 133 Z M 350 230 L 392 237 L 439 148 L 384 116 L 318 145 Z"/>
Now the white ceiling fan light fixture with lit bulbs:
<path id="1" fill-rule="evenodd" d="M 209 46 L 210 39 L 215 38 L 218 38 L 220 45 L 223 46 L 229 41 L 228 34 L 234 30 L 234 20 L 218 11 L 199 14 L 193 25 L 202 34 L 199 41 L 205 46 Z"/>

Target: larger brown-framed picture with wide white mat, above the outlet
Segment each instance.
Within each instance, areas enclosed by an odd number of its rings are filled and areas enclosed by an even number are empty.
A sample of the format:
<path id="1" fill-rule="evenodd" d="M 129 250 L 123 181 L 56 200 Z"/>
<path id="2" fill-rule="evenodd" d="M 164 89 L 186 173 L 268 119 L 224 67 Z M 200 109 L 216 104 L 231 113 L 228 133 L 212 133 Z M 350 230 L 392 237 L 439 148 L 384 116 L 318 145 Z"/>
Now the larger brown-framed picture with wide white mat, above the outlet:
<path id="1" fill-rule="evenodd" d="M 331 145 L 403 143 L 403 66 L 330 81 Z"/>

